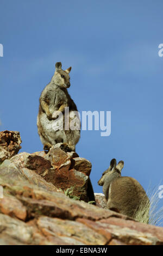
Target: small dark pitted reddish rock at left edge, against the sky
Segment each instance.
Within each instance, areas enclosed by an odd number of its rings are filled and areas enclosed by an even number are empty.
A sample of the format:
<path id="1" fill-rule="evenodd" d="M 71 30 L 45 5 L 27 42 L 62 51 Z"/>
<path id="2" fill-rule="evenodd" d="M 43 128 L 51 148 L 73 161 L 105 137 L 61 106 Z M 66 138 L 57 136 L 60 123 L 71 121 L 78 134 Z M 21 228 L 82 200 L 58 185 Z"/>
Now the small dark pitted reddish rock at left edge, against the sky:
<path id="1" fill-rule="evenodd" d="M 0 132 L 0 163 L 10 159 L 21 149 L 21 137 L 17 131 Z"/>

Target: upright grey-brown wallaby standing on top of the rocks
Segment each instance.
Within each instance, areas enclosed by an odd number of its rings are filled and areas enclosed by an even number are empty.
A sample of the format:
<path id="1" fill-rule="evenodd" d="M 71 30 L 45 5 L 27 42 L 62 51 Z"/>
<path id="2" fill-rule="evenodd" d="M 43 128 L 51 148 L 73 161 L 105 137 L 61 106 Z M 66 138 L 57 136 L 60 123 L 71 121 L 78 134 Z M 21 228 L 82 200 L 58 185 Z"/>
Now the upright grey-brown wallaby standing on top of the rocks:
<path id="1" fill-rule="evenodd" d="M 67 92 L 67 88 L 70 87 L 70 71 L 71 67 L 62 70 L 61 62 L 57 62 L 52 80 L 43 89 L 40 96 L 37 128 L 44 150 L 49 150 L 52 145 L 57 143 L 64 143 L 65 150 L 75 151 L 80 138 L 80 120 L 77 114 L 77 106 Z M 65 129 L 66 107 L 69 107 L 67 123 L 73 121 L 76 129 L 72 130 L 69 126 L 68 129 Z"/>

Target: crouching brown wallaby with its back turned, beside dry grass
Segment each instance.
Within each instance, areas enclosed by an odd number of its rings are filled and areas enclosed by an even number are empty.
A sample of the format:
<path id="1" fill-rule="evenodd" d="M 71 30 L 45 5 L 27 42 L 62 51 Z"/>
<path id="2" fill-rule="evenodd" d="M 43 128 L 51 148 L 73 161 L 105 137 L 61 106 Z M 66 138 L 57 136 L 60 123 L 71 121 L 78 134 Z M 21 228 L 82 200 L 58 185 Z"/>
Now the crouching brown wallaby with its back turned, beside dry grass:
<path id="1" fill-rule="evenodd" d="M 137 221 L 140 217 L 141 221 L 145 220 L 142 222 L 148 223 L 149 208 L 142 207 L 149 202 L 147 194 L 137 180 L 121 176 L 123 166 L 123 161 L 116 165 L 116 159 L 112 159 L 109 168 L 105 170 L 102 178 L 98 181 L 98 185 L 103 186 L 103 193 L 107 200 L 106 209 L 128 215 Z M 144 217 L 142 218 L 142 216 Z"/>

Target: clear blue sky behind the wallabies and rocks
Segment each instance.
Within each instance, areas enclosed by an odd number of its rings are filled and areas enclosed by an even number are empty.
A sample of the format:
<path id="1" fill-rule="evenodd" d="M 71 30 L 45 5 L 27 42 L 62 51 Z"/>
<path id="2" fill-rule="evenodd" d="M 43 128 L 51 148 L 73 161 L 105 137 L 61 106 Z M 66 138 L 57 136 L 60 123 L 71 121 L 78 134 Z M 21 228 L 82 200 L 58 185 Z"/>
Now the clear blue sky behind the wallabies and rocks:
<path id="1" fill-rule="evenodd" d="M 92 162 L 95 192 L 112 158 L 145 190 L 163 185 L 162 7 L 161 0 L 1 0 L 0 129 L 20 131 L 21 152 L 42 150 L 39 97 L 62 62 L 72 66 L 68 92 L 78 110 L 111 111 L 111 135 L 82 131 L 76 148 Z"/>

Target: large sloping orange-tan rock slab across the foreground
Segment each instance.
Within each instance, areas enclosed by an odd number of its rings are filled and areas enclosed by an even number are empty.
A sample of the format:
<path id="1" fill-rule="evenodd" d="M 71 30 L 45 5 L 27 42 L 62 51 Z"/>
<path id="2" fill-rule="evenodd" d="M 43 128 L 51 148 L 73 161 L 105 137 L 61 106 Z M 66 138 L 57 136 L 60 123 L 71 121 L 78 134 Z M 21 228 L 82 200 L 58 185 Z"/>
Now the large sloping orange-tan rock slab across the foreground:
<path id="1" fill-rule="evenodd" d="M 28 156 L 0 166 L 0 245 L 163 245 L 163 228 L 68 198 L 23 167 L 50 167 Z"/>

